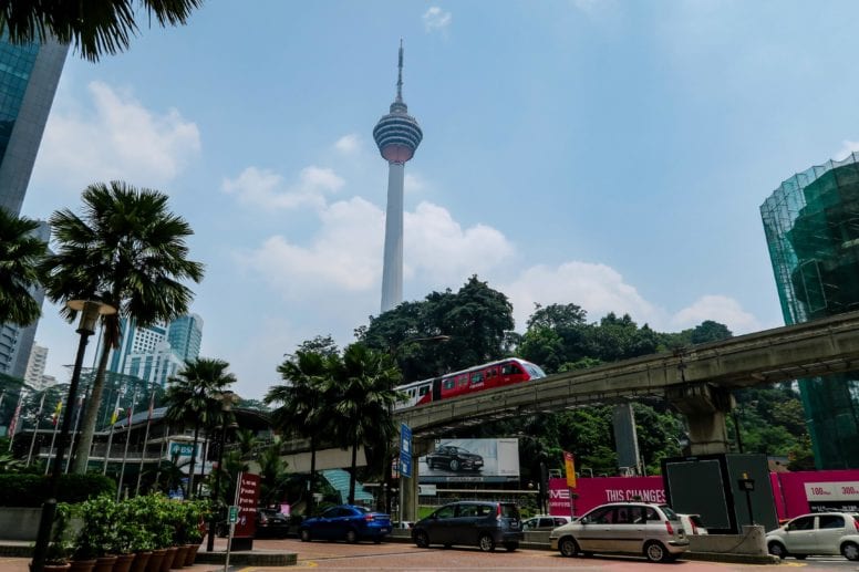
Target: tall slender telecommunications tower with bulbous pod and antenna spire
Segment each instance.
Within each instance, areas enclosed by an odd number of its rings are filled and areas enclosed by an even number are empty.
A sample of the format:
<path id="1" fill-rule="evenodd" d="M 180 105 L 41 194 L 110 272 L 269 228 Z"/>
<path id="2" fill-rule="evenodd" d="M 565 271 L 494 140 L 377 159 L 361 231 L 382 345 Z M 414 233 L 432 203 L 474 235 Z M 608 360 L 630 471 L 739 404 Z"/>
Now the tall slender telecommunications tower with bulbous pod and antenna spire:
<path id="1" fill-rule="evenodd" d="M 403 179 L 405 162 L 411 159 L 424 134 L 403 102 L 403 40 L 400 40 L 400 63 L 396 76 L 396 98 L 391 112 L 379 119 L 373 138 L 387 162 L 387 210 L 385 212 L 385 258 L 382 269 L 382 312 L 393 310 L 403 301 Z"/>

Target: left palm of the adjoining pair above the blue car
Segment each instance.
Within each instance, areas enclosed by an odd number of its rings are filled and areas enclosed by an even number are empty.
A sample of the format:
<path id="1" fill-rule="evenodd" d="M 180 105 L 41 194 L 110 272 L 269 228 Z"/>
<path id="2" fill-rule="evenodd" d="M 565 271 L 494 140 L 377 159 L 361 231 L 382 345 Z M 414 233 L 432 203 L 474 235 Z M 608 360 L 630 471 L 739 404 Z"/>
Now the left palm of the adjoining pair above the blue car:
<path id="1" fill-rule="evenodd" d="M 319 437 L 331 426 L 330 409 L 324 395 L 325 383 L 337 355 L 298 351 L 278 366 L 286 382 L 269 388 L 266 405 L 280 404 L 271 412 L 271 423 L 280 431 L 294 433 L 310 440 L 310 490 L 308 516 L 313 513 L 313 492 L 317 481 L 317 448 Z"/>

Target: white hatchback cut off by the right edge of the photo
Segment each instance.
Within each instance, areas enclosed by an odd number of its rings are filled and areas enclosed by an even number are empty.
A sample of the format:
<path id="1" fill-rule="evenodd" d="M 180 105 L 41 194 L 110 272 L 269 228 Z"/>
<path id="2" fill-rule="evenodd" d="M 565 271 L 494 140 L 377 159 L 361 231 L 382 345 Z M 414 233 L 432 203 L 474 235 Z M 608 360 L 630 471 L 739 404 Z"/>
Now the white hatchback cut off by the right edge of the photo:
<path id="1" fill-rule="evenodd" d="M 804 560 L 811 554 L 841 554 L 859 560 L 859 514 L 818 512 L 803 514 L 766 534 L 770 554 Z"/>

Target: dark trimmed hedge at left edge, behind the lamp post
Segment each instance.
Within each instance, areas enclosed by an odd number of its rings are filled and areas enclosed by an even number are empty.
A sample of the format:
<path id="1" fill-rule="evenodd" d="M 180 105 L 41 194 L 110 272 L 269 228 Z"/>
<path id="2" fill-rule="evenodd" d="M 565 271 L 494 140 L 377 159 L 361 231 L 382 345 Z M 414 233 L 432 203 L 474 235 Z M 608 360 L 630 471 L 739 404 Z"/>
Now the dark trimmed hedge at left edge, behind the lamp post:
<path id="1" fill-rule="evenodd" d="M 83 502 L 103 492 L 116 492 L 116 482 L 103 475 L 60 475 L 59 502 Z M 48 497 L 43 475 L 0 475 L 0 507 L 41 507 Z"/>

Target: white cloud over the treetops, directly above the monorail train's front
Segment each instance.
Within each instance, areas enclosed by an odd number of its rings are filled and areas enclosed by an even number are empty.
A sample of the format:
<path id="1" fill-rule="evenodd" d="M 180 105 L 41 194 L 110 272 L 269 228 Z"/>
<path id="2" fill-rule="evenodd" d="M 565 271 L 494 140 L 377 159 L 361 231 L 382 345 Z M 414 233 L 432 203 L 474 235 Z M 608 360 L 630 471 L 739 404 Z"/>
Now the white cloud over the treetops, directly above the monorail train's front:
<path id="1" fill-rule="evenodd" d="M 613 268 L 590 262 L 565 262 L 558 267 L 537 264 L 500 290 L 514 304 L 517 330 L 534 313 L 535 303 L 578 304 L 596 321 L 609 312 L 630 314 L 639 323 L 651 322 L 659 311 L 623 281 Z"/>

